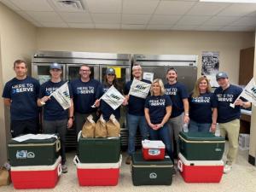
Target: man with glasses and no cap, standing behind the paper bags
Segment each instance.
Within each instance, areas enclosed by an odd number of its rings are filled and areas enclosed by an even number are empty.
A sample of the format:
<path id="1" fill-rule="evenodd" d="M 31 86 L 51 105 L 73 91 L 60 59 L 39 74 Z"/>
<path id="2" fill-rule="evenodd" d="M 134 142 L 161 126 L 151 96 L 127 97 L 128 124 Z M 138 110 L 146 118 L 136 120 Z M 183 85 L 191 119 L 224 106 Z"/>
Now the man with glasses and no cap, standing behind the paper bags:
<path id="1" fill-rule="evenodd" d="M 90 67 L 83 65 L 79 69 L 81 78 L 71 82 L 77 134 L 82 130 L 84 122 L 90 114 L 95 121 L 97 120 L 97 109 L 91 108 L 91 106 L 102 95 L 102 85 L 99 81 L 90 79 L 90 73 Z M 96 107 L 99 107 L 99 102 Z"/>

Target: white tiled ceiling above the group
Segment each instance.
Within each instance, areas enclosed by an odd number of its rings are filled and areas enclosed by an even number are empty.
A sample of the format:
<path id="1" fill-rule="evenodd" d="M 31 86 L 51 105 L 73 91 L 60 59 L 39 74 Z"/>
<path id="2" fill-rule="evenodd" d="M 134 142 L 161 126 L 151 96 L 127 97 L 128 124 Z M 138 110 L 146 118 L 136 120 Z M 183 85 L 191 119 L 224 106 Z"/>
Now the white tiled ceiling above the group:
<path id="1" fill-rule="evenodd" d="M 198 0 L 70 0 L 84 9 L 55 6 L 60 0 L 0 0 L 38 27 L 253 32 L 256 3 Z"/>

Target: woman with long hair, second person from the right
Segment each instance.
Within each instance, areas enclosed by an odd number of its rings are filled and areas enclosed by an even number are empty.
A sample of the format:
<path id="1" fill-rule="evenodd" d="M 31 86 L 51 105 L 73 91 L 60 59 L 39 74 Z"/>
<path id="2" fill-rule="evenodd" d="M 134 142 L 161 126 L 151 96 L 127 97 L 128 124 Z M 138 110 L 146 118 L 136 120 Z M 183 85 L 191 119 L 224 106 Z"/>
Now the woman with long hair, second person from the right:
<path id="1" fill-rule="evenodd" d="M 217 122 L 217 97 L 211 92 L 207 77 L 203 76 L 195 83 L 189 96 L 189 131 L 214 132 Z"/>

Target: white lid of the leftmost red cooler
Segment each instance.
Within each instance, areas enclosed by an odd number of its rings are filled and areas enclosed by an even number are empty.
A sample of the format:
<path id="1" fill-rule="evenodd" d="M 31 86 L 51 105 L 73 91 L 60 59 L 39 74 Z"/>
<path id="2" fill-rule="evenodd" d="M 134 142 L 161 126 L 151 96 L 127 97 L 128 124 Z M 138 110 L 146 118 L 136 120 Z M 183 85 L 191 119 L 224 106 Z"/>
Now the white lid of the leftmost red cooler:
<path id="1" fill-rule="evenodd" d="M 59 165 L 61 165 L 61 156 L 59 156 L 55 161 L 55 164 L 51 166 L 11 166 L 11 171 L 52 171 L 55 170 L 55 168 Z"/>

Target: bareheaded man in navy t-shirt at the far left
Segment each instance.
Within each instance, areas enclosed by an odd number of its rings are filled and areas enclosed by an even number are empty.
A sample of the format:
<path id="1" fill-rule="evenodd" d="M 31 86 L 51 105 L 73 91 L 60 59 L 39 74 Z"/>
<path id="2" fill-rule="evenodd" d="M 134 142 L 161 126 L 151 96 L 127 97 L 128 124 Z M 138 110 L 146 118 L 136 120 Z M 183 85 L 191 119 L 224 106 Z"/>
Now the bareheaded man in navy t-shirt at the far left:
<path id="1" fill-rule="evenodd" d="M 26 62 L 14 63 L 16 77 L 7 82 L 3 89 L 3 102 L 10 106 L 10 130 L 12 137 L 27 133 L 38 133 L 37 99 L 40 84 L 26 75 Z"/>

